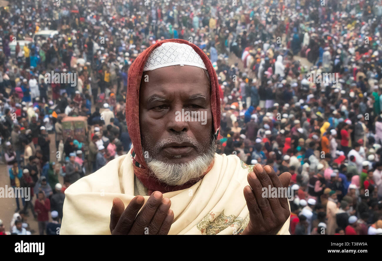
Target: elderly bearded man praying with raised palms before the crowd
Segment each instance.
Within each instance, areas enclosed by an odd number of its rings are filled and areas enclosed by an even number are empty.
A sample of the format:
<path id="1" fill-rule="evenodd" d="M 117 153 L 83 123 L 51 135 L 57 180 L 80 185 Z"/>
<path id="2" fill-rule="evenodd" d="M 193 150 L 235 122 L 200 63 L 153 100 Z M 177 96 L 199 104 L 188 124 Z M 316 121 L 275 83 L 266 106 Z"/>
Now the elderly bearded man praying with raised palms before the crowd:
<path id="1" fill-rule="evenodd" d="M 287 187 L 290 173 L 215 153 L 219 84 L 200 48 L 151 45 L 127 93 L 133 146 L 66 189 L 60 234 L 289 234 L 288 199 L 262 188 Z M 176 117 L 182 110 L 189 117 Z"/>

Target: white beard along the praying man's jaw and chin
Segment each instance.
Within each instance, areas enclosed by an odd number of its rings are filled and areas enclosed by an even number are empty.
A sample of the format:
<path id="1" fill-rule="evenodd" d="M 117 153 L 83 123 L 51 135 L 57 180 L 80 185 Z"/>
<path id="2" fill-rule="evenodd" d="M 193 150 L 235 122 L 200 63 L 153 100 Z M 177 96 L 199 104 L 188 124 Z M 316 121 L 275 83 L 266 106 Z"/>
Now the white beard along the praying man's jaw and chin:
<path id="1" fill-rule="evenodd" d="M 204 174 L 215 157 L 216 145 L 211 144 L 205 154 L 186 163 L 166 163 L 149 157 L 147 167 L 160 182 L 171 186 L 181 186 L 191 179 L 197 179 Z"/>

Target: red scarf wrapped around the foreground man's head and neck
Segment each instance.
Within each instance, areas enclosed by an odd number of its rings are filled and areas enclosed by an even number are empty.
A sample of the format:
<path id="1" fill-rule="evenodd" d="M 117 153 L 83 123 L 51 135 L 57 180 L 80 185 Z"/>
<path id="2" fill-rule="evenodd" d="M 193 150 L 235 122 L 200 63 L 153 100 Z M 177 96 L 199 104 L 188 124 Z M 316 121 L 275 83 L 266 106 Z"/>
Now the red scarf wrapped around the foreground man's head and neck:
<path id="1" fill-rule="evenodd" d="M 133 157 L 134 174 L 144 184 L 144 186 L 149 189 L 149 194 L 151 194 L 153 191 L 168 192 L 186 189 L 197 182 L 189 181 L 183 184 L 182 186 L 169 186 L 167 184 L 161 183 L 160 181 L 158 181 L 157 178 L 154 177 L 154 175 L 150 175 L 149 170 L 147 169 L 146 162 L 144 160 L 144 154 L 142 152 L 141 133 L 139 131 L 139 88 L 141 85 L 143 68 L 151 52 L 158 46 L 167 42 L 185 43 L 191 46 L 196 51 L 196 53 L 199 54 L 199 56 L 202 58 L 202 61 L 204 62 L 204 65 L 207 68 L 207 72 L 209 74 L 211 82 L 210 100 L 213 119 L 212 127 L 214 128 L 215 136 L 218 135 L 220 127 L 220 96 L 217 75 L 214 70 L 214 67 L 211 64 L 211 61 L 199 47 L 186 40 L 167 39 L 151 45 L 149 48 L 147 48 L 141 54 L 139 54 L 139 56 L 135 59 L 133 64 L 131 64 L 128 72 L 128 85 L 126 95 L 126 123 L 131 142 L 133 143 L 133 150 L 131 152 L 131 155 Z M 206 173 L 208 171 L 209 169 L 206 171 Z"/>

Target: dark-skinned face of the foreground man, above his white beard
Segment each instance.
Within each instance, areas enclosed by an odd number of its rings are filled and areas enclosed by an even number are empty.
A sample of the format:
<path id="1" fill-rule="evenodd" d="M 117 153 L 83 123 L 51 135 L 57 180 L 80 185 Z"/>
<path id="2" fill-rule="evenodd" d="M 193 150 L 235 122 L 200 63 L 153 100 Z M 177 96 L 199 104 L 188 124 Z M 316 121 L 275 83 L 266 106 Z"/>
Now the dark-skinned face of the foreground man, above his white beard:
<path id="1" fill-rule="evenodd" d="M 144 82 L 145 75 L 148 75 L 148 82 Z M 195 66 L 168 66 L 146 72 L 142 79 L 139 122 L 143 148 L 155 159 L 168 159 L 169 163 L 188 162 L 206 152 L 210 145 L 212 112 L 209 82 L 202 69 Z M 176 121 L 176 112 L 182 109 L 185 112 L 206 113 L 206 124 L 201 124 L 200 120 Z M 176 138 L 179 135 L 186 135 L 197 144 L 182 144 L 184 140 Z M 157 146 L 163 139 L 171 137 L 175 137 L 173 141 L 178 144 Z M 176 155 L 182 157 L 174 158 Z"/>

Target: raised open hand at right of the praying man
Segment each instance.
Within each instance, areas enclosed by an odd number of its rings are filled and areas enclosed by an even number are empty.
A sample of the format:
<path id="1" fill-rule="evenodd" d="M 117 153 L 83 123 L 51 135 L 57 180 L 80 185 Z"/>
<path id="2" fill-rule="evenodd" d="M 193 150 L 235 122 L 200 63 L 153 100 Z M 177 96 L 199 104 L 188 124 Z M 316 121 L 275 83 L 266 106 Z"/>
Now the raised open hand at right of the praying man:
<path id="1" fill-rule="evenodd" d="M 276 235 L 290 216 L 286 197 L 262 197 L 262 188 L 288 187 L 291 174 L 284 172 L 277 176 L 275 170 L 257 164 L 247 176 L 250 186 L 244 187 L 244 197 L 249 210 L 249 223 L 243 235 Z M 284 195 L 286 196 L 286 195 Z"/>

